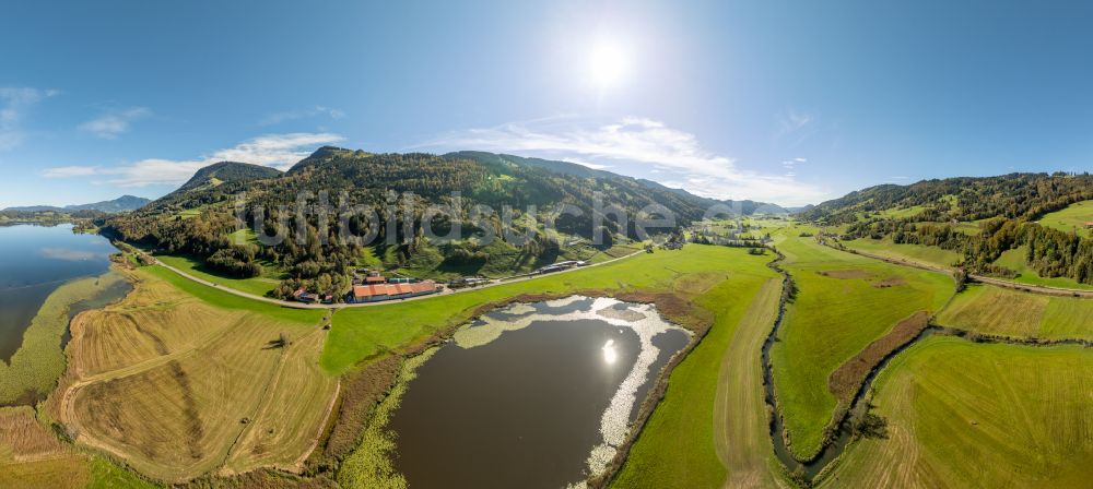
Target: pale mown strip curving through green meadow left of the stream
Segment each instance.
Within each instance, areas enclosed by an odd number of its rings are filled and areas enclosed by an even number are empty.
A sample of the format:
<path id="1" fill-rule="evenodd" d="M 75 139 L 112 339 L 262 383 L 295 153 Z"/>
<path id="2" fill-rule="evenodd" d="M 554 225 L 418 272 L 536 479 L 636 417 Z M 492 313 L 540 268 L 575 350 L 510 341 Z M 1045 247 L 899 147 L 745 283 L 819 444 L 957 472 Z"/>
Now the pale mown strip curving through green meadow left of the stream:
<path id="1" fill-rule="evenodd" d="M 721 356 L 714 398 L 714 448 L 729 472 L 725 487 L 779 487 L 763 399 L 763 342 L 778 313 L 781 279 L 771 278 L 752 299 Z"/>

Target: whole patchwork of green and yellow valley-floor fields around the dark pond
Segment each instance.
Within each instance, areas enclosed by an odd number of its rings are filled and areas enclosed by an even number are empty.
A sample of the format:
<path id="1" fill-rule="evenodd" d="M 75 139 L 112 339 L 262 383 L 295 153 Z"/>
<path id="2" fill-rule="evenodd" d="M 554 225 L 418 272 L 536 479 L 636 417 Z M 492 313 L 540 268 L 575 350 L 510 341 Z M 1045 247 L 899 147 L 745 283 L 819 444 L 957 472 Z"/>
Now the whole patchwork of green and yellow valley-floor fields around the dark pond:
<path id="1" fill-rule="evenodd" d="M 953 296 L 943 274 L 823 247 L 800 236 L 809 230 L 802 226 L 774 226 L 796 294 L 771 358 L 779 414 L 799 456 L 818 450 L 824 427 L 849 407 L 835 389 L 846 387 L 832 383 L 835 372 L 920 311 L 943 326 L 1012 341 L 1093 337 L 1093 300 L 991 285 Z M 308 467 L 329 482 L 336 476 L 305 458 L 355 451 L 402 358 L 496 305 L 588 293 L 658 301 L 669 319 L 705 332 L 671 371 L 612 487 L 792 487 L 773 453 L 764 401 L 761 350 L 781 295 L 781 276 L 767 266 L 773 258 L 690 244 L 337 311 L 281 307 L 166 266 L 138 269 L 129 272 L 137 284 L 129 297 L 72 323 L 66 374 L 39 413 L 0 409 L 0 485 L 49 486 L 60 464 L 75 467 L 61 487 L 145 484 L 102 454 L 169 482 L 259 467 Z M 881 428 L 850 443 L 819 481 L 1080 487 L 1093 477 L 1079 463 L 1093 457 L 1084 408 L 1091 355 L 1088 345 L 919 341 L 871 386 Z M 75 444 L 57 438 L 50 420 Z"/>

